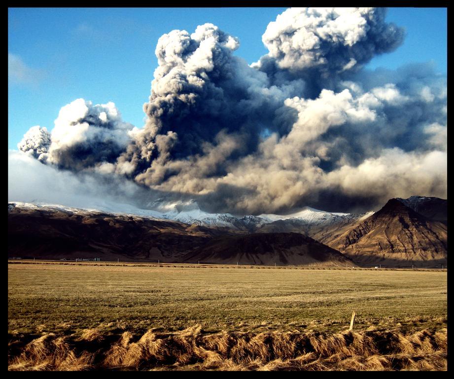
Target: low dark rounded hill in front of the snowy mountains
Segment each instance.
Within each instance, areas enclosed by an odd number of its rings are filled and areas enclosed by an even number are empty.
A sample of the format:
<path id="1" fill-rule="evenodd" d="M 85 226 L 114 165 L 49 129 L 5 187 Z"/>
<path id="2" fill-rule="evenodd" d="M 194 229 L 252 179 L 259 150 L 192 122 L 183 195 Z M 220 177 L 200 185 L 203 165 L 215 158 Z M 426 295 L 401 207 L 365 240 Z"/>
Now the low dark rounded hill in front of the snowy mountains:
<path id="1" fill-rule="evenodd" d="M 338 251 L 299 233 L 217 237 L 182 259 L 242 265 L 354 265 Z"/>

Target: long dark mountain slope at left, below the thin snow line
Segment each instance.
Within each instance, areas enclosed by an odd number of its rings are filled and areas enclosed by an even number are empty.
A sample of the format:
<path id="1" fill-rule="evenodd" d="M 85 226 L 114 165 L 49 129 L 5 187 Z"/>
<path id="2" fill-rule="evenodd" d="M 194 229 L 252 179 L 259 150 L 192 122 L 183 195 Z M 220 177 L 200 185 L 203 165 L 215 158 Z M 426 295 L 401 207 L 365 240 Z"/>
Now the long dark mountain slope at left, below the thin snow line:
<path id="1" fill-rule="evenodd" d="M 8 213 L 8 256 L 172 261 L 205 243 L 210 233 L 204 229 L 133 216 L 15 208 Z"/>

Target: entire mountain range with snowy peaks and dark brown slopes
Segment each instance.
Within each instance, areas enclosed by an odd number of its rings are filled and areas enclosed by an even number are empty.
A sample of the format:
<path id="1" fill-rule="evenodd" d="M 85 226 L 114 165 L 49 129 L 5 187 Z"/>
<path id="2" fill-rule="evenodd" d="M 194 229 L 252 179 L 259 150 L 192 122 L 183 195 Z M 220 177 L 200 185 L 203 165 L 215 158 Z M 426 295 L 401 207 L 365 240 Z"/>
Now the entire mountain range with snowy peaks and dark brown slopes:
<path id="1" fill-rule="evenodd" d="M 377 212 L 305 207 L 289 215 L 211 214 L 194 200 L 150 209 L 8 203 L 8 257 L 247 265 L 447 264 L 447 200 L 390 199 Z"/>

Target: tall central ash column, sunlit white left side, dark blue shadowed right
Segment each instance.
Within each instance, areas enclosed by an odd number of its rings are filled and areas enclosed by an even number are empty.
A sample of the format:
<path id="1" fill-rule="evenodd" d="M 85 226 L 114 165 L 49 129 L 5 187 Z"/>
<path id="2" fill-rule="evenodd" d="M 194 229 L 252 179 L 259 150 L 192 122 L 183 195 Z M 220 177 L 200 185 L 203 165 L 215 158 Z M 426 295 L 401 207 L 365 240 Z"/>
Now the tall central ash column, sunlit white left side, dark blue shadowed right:
<path id="1" fill-rule="evenodd" d="M 149 103 L 144 105 L 148 119 L 134 143 L 118 161 L 118 172 L 140 171 L 136 180 L 158 184 L 177 167 L 174 159 L 198 159 L 210 154 L 222 137 L 220 162 L 237 159 L 257 148 L 265 130 L 288 130 L 291 115 L 279 113 L 283 101 L 304 85 L 270 86 L 264 74 L 233 56 L 239 46 L 236 38 L 212 24 L 199 26 L 189 35 L 173 31 L 162 36 L 156 47 L 159 67 L 155 70 Z M 214 145 L 213 145 L 214 144 Z M 207 175 L 222 173 L 213 162 Z M 163 168 L 166 166 L 166 168 Z"/>

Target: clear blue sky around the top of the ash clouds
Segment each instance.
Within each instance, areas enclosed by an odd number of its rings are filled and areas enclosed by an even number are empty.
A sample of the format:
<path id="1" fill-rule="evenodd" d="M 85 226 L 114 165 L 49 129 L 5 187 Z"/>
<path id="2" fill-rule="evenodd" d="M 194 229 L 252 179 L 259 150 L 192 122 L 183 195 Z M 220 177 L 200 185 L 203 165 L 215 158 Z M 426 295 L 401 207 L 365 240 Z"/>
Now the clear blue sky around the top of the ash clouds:
<path id="1" fill-rule="evenodd" d="M 8 149 L 17 150 L 31 126 L 50 131 L 60 108 L 77 98 L 112 101 L 124 121 L 141 127 L 159 37 L 210 22 L 240 39 L 236 55 L 250 64 L 267 53 L 261 36 L 284 9 L 8 9 Z M 406 29 L 405 41 L 369 69 L 433 61 L 447 72 L 446 8 L 390 8 L 386 21 Z"/>

